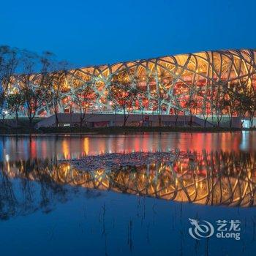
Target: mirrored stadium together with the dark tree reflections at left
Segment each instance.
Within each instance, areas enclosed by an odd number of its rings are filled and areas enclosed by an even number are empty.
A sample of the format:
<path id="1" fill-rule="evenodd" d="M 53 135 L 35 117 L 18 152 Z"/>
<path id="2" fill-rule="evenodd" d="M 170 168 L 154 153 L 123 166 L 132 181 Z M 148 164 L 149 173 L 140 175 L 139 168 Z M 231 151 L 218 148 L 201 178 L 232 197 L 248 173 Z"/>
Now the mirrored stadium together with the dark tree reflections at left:
<path id="1" fill-rule="evenodd" d="M 173 164 L 152 162 L 86 172 L 57 159 L 1 163 L 0 218 L 45 213 L 72 198 L 78 187 L 203 205 L 255 206 L 256 156 L 248 153 L 194 152 Z M 90 190 L 91 196 L 97 191 Z"/>

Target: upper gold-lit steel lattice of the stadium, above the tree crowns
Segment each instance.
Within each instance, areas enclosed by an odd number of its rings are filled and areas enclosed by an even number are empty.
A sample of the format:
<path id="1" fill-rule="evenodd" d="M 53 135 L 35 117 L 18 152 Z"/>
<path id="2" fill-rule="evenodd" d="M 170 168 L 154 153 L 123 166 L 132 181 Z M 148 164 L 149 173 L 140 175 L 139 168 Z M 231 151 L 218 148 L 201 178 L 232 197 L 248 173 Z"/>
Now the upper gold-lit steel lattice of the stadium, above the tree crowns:
<path id="1" fill-rule="evenodd" d="M 59 112 L 66 112 L 70 106 L 73 112 L 78 112 L 72 104 L 74 85 L 82 85 L 88 80 L 94 81 L 93 89 L 98 95 L 91 110 L 111 110 L 108 87 L 113 77 L 122 72 L 126 72 L 131 82 L 136 79 L 138 85 L 148 91 L 149 102 L 154 100 L 154 93 L 161 89 L 165 94 L 162 101 L 165 113 L 171 113 L 175 108 L 172 101 L 175 94 L 179 94 L 179 98 L 183 99 L 191 90 L 197 92 L 197 89 L 200 89 L 201 92 L 207 93 L 216 83 L 242 83 L 244 80 L 247 80 L 248 86 L 256 89 L 255 71 L 256 50 L 212 50 L 70 69 L 63 80 L 64 96 Z M 35 84 L 38 76 L 34 75 Z M 16 79 L 12 83 L 12 89 L 18 89 L 19 86 L 19 80 Z M 38 113 L 50 116 L 52 111 L 46 103 Z"/>

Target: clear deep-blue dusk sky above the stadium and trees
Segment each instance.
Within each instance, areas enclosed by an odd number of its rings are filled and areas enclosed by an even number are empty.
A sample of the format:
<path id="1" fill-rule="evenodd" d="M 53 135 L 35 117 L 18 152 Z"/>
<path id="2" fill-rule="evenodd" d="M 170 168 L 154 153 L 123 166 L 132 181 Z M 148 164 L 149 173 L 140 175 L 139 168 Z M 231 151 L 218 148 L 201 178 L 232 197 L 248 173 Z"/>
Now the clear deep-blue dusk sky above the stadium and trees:
<path id="1" fill-rule="evenodd" d="M 0 45 L 77 67 L 256 48 L 255 0 L 1 1 Z"/>

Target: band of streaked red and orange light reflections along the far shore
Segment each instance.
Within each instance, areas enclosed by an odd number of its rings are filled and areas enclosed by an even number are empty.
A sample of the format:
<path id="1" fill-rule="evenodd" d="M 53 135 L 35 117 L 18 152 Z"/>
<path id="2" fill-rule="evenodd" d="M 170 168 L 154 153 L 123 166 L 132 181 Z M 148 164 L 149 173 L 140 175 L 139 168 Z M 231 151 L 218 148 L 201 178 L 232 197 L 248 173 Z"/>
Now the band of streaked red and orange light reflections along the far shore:
<path id="1" fill-rule="evenodd" d="M 57 135 L 1 137 L 0 159 L 71 159 L 80 155 L 131 151 L 256 151 L 256 132 L 144 133 L 129 135 Z"/>

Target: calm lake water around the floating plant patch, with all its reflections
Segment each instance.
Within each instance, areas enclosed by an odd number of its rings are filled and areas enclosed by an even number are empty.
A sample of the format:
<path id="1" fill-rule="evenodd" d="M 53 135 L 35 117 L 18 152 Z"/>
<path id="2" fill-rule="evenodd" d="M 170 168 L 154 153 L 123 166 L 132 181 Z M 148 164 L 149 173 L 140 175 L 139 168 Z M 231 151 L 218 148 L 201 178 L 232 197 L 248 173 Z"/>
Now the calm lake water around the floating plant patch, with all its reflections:
<path id="1" fill-rule="evenodd" d="M 195 157 L 92 173 L 58 162 L 173 150 Z M 1 137 L 0 159 L 1 255 L 255 255 L 256 132 Z M 239 220 L 241 239 L 196 240 L 189 218 Z"/>

